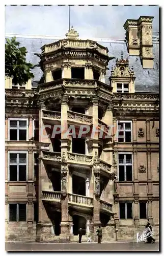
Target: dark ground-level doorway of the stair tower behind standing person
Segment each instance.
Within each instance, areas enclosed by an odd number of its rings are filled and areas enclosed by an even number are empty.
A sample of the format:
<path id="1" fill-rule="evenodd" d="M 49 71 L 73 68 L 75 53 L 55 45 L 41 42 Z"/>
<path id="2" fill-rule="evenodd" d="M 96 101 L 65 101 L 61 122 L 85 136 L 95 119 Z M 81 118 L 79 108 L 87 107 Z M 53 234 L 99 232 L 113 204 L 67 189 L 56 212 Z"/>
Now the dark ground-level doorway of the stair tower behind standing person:
<path id="1" fill-rule="evenodd" d="M 74 215 L 73 216 L 73 234 L 74 234 L 74 236 L 78 235 L 79 228 L 82 228 L 83 234 L 86 234 L 86 219 L 82 216 Z"/>

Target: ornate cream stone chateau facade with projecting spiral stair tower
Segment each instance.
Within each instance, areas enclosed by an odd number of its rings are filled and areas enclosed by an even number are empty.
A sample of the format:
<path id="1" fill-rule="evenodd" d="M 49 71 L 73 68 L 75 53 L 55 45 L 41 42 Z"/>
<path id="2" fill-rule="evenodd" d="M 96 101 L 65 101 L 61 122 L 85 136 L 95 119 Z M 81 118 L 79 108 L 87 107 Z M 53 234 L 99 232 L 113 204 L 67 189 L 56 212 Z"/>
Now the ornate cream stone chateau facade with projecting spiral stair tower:
<path id="1" fill-rule="evenodd" d="M 41 47 L 36 88 L 6 74 L 7 241 L 73 242 L 80 227 L 97 241 L 98 225 L 102 241 L 136 240 L 147 221 L 158 237 L 159 94 L 143 90 L 158 63 L 152 20 L 124 24 L 128 58 L 71 28 Z"/>

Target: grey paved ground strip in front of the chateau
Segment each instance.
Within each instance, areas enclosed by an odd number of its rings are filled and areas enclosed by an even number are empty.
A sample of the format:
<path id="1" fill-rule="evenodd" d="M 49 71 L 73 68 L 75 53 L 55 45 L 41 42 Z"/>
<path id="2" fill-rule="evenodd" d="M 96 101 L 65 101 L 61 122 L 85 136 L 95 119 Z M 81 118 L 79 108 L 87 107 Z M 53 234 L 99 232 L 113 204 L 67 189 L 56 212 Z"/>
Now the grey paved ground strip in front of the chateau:
<path id="1" fill-rule="evenodd" d="M 6 251 L 159 251 L 159 242 L 139 243 L 22 243 L 5 244 Z"/>

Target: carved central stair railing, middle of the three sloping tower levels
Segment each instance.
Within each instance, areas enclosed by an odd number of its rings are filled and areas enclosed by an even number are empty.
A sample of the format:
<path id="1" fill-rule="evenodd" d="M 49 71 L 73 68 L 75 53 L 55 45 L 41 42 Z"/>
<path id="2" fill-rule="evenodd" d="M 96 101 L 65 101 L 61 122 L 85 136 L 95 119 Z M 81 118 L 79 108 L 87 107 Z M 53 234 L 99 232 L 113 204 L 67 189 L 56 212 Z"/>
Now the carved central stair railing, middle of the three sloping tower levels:
<path id="1" fill-rule="evenodd" d="M 92 156 L 86 156 L 83 154 L 68 153 L 68 162 L 92 164 Z"/>

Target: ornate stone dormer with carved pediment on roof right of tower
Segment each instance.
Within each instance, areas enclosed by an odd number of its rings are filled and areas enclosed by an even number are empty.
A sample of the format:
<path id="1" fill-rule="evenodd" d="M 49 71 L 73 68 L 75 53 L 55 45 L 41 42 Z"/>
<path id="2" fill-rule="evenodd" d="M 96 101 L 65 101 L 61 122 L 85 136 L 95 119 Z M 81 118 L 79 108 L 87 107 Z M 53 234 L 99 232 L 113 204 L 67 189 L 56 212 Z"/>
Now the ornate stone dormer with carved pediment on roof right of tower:
<path id="1" fill-rule="evenodd" d="M 129 68 L 129 60 L 123 58 L 123 52 L 121 52 L 121 59 L 116 59 L 116 65 L 111 70 L 111 86 L 114 88 L 113 92 L 117 92 L 117 83 L 129 84 L 128 92 L 134 92 L 134 71 L 133 68 Z"/>

